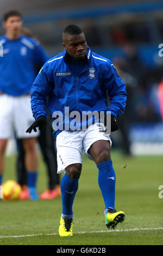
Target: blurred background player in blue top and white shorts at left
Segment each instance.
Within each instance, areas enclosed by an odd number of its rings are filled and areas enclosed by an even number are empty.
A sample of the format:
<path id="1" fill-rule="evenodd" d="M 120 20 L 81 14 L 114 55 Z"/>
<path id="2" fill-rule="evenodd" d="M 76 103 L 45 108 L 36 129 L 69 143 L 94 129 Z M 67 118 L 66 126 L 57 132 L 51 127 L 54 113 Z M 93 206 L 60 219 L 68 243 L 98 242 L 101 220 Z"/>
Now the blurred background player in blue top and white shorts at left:
<path id="1" fill-rule="evenodd" d="M 22 23 L 22 14 L 17 10 L 10 10 L 3 16 L 5 35 L 0 38 L 3 45 L 3 57 L 0 58 L 0 185 L 5 149 L 15 132 L 17 138 L 23 139 L 29 197 L 36 200 L 38 132 L 29 135 L 26 127 L 33 123 L 30 88 L 36 76 L 34 64 L 42 66 L 48 56 L 39 42 L 21 34 Z M 21 199 L 26 197 L 27 194 L 22 195 Z"/>

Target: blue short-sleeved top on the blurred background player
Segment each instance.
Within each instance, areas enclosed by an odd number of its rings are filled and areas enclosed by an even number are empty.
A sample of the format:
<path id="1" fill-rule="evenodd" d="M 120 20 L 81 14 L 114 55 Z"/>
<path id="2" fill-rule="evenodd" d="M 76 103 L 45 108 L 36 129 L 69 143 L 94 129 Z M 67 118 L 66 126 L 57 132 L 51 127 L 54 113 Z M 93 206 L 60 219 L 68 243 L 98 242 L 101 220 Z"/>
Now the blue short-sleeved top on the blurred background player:
<path id="1" fill-rule="evenodd" d="M 49 57 L 35 39 L 21 35 L 9 40 L 6 35 L 0 37 L 3 45 L 3 57 L 0 57 L 0 91 L 21 96 L 30 92 L 35 80 L 35 64 L 42 66 Z"/>

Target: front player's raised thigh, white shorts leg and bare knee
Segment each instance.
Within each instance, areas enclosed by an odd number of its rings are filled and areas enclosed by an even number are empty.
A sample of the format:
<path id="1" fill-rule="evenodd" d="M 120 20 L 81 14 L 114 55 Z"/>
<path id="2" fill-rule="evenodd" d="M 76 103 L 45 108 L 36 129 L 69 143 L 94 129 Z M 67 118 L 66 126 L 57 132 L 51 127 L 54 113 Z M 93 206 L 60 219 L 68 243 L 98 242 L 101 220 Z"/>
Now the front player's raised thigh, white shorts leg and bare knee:
<path id="1" fill-rule="evenodd" d="M 83 145 L 85 154 L 91 160 L 97 162 L 102 156 L 109 160 L 111 139 L 105 133 L 103 124 L 95 124 L 89 127 Z"/>

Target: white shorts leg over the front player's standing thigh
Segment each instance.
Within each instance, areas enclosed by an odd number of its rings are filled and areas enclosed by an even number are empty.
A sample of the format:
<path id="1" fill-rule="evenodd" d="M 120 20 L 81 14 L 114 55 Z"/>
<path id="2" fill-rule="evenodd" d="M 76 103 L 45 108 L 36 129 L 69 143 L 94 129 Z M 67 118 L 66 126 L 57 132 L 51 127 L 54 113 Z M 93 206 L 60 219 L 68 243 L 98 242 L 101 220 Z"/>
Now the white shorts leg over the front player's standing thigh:
<path id="1" fill-rule="evenodd" d="M 58 173 L 66 171 L 72 164 L 82 164 L 83 132 L 62 131 L 56 139 Z M 69 169 L 69 168 L 68 168 Z"/>

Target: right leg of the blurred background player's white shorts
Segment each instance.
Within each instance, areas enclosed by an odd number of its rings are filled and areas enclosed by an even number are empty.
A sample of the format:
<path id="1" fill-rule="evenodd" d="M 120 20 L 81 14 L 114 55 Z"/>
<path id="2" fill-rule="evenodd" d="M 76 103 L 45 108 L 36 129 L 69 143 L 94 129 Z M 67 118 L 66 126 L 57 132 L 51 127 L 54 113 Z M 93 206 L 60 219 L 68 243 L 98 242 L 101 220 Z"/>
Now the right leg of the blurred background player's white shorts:
<path id="1" fill-rule="evenodd" d="M 25 95 L 16 97 L 14 102 L 14 126 L 17 138 L 38 137 L 38 129 L 37 132 L 26 132 L 28 127 L 32 125 L 34 121 L 35 119 L 33 118 L 32 109 L 30 107 L 30 96 Z"/>

